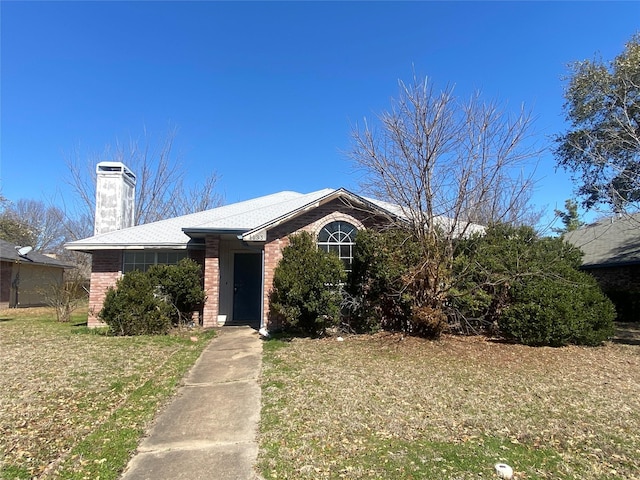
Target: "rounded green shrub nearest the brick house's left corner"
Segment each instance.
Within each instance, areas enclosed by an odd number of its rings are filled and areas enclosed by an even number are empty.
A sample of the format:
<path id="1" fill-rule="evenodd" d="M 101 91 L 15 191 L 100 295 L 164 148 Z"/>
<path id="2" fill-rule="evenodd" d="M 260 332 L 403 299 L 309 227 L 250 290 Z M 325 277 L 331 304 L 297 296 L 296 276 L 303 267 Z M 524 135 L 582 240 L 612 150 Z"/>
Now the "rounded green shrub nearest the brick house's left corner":
<path id="1" fill-rule="evenodd" d="M 128 272 L 109 288 L 98 316 L 114 335 L 167 333 L 172 307 L 155 290 L 149 275 Z"/>

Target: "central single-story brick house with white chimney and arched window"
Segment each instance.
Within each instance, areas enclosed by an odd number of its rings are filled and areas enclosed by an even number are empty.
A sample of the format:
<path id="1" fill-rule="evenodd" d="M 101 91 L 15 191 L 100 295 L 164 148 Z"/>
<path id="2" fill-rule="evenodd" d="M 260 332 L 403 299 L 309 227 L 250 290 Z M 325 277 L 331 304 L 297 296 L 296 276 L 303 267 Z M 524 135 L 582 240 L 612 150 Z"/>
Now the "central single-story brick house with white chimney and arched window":
<path id="1" fill-rule="evenodd" d="M 65 245 L 92 254 L 89 326 L 101 325 L 98 314 L 107 290 L 123 274 L 187 257 L 203 269 L 206 301 L 198 312 L 200 324 L 274 327 L 269 293 L 291 234 L 311 233 L 319 248 L 337 253 L 348 266 L 358 230 L 402 217 L 396 205 L 339 188 L 283 191 L 133 226 L 133 172 L 119 162 L 101 162 L 96 175 L 95 234 Z M 451 228 L 446 219 L 439 221 Z"/>

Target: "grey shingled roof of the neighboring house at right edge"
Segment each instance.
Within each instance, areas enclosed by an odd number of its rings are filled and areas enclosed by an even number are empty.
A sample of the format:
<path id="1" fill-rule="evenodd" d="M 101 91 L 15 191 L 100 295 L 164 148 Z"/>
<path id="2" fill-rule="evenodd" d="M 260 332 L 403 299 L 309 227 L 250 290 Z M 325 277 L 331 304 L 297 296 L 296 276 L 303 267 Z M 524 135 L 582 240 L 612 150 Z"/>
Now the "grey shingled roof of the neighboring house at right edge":
<path id="1" fill-rule="evenodd" d="M 601 220 L 563 238 L 584 252 L 583 267 L 640 263 L 640 213 Z"/>

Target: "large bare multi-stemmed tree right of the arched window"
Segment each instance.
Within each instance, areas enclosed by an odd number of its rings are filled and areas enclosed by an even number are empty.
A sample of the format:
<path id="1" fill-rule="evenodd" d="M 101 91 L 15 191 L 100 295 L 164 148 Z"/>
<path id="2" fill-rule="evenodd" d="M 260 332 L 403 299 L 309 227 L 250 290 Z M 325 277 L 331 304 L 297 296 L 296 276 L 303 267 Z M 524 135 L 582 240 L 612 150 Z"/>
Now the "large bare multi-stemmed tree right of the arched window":
<path id="1" fill-rule="evenodd" d="M 452 286 L 455 239 L 490 222 L 524 223 L 540 153 L 532 116 L 510 114 L 480 94 L 466 101 L 416 76 L 399 82 L 391 108 L 352 129 L 349 157 L 362 188 L 399 206 L 398 225 L 421 245 L 406 279 L 417 307 L 440 309 Z"/>

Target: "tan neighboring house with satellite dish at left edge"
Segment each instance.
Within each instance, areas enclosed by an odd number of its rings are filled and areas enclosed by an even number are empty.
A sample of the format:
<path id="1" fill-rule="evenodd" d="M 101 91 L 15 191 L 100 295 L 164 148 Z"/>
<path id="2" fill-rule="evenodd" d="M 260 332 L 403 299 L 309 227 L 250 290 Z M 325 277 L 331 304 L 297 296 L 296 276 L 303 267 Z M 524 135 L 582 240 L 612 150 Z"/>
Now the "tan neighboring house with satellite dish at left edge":
<path id="1" fill-rule="evenodd" d="M 47 304 L 47 290 L 63 281 L 70 266 L 28 247 L 0 240 L 0 308 Z"/>

